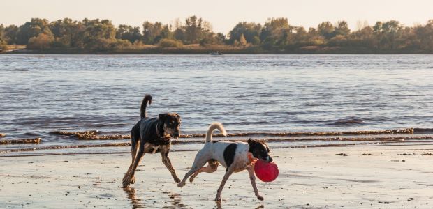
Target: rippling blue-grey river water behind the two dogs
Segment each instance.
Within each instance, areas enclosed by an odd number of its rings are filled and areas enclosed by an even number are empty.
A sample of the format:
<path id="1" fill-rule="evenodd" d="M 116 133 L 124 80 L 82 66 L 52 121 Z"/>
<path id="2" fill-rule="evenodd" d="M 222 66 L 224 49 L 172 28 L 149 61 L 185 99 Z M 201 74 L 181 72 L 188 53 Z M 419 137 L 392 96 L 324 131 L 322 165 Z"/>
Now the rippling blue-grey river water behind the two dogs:
<path id="1" fill-rule="evenodd" d="M 51 132 L 128 134 L 145 93 L 149 116 L 177 112 L 184 134 L 212 121 L 228 132 L 428 130 L 432 81 L 432 55 L 1 55 L 3 139 L 43 143 L 0 151 L 107 143 Z"/>

